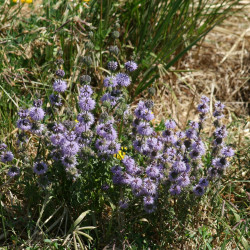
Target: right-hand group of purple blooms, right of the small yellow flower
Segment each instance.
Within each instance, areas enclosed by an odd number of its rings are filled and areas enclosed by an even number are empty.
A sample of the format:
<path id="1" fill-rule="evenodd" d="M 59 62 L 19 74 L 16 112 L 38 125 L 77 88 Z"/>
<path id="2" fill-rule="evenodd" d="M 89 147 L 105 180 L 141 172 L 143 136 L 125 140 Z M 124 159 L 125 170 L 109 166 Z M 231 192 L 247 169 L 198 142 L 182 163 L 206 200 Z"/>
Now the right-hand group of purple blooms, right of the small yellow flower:
<path id="1" fill-rule="evenodd" d="M 208 171 L 208 176 L 199 177 L 198 169 L 203 168 L 203 156 L 207 153 L 200 132 L 209 111 L 208 103 L 209 99 L 203 96 L 198 105 L 199 122 L 191 121 L 185 131 L 176 131 L 175 121 L 167 120 L 161 136 L 154 132 L 149 123 L 154 118 L 152 103 L 140 101 L 135 108 L 136 118 L 131 128 L 133 157 L 126 155 L 122 160 L 123 165 L 116 165 L 111 171 L 113 183 L 129 186 L 135 197 L 142 198 L 145 211 L 150 213 L 155 210 L 162 180 L 167 178 L 171 195 L 188 192 L 192 187 L 194 195 L 202 196 L 209 181 L 212 181 L 210 172 L 214 173 L 229 165 L 227 158 L 233 156 L 234 152 L 224 146 L 219 151 L 220 157 L 213 158 L 213 168 Z M 225 127 L 216 128 L 215 140 L 226 135 Z M 140 155 L 139 158 L 137 155 Z M 142 156 L 145 166 L 138 166 L 135 159 L 141 159 Z"/>

